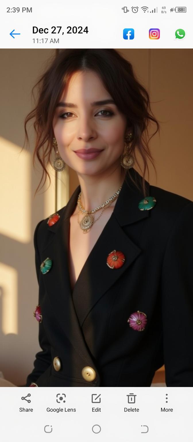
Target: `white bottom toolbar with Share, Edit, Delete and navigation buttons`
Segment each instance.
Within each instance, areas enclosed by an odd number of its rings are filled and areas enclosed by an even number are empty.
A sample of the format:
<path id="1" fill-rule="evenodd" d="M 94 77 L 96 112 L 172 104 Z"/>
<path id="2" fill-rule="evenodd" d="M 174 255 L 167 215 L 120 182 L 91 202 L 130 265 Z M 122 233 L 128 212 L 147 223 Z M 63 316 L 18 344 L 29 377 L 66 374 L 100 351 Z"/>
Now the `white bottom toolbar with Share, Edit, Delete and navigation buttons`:
<path id="1" fill-rule="evenodd" d="M 182 387 L 1 388 L 1 440 L 190 441 L 192 404 Z"/>

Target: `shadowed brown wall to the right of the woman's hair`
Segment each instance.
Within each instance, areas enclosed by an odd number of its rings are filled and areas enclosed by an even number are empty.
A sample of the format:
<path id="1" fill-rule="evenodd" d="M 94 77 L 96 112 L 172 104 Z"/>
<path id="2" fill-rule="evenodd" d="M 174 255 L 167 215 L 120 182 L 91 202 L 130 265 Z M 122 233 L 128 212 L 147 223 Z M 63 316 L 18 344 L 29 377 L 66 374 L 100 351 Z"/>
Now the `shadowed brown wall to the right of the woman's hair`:
<path id="1" fill-rule="evenodd" d="M 150 141 L 158 180 L 150 183 L 193 200 L 193 50 L 121 50 L 148 89 L 160 137 Z"/>

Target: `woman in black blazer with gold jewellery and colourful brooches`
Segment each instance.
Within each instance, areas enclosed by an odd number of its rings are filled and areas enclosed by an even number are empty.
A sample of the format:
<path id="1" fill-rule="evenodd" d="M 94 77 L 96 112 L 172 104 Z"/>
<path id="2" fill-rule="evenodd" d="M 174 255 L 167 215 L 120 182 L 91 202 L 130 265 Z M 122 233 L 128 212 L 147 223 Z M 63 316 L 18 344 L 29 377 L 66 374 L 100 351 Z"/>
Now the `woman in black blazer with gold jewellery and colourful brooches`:
<path id="1" fill-rule="evenodd" d="M 34 232 L 42 350 L 26 386 L 150 386 L 163 364 L 167 386 L 193 386 L 193 202 L 144 178 L 147 91 L 112 49 L 63 50 L 38 86 L 33 158 L 46 176 L 54 151 L 80 184 Z"/>

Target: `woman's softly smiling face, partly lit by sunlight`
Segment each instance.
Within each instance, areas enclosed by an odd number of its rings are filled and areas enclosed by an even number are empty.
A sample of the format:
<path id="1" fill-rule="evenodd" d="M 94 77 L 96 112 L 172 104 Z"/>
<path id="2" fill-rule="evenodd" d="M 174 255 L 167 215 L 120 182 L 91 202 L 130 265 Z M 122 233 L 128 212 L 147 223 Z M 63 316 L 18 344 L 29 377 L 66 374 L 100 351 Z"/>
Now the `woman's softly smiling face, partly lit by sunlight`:
<path id="1" fill-rule="evenodd" d="M 53 121 L 59 154 L 78 174 L 97 175 L 120 167 L 126 117 L 114 103 L 96 103 L 107 100 L 112 97 L 93 71 L 74 73 L 59 99 Z M 75 153 L 91 148 L 100 149 L 97 156 Z"/>

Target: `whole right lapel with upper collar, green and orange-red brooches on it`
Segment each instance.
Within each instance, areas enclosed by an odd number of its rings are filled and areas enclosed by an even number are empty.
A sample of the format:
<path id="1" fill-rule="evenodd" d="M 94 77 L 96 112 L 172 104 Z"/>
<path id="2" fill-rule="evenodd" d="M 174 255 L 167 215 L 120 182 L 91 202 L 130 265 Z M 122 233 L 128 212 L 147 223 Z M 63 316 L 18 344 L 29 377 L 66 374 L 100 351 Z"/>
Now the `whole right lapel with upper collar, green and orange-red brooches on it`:
<path id="1" fill-rule="evenodd" d="M 141 177 L 134 169 L 131 173 L 133 176 L 136 173 L 138 179 Z M 148 182 L 146 190 L 149 191 Z M 97 301 L 141 253 L 141 249 L 134 244 L 122 227 L 149 216 L 149 210 L 141 211 L 138 208 L 138 203 L 143 198 L 143 194 L 132 183 L 128 185 L 126 180 L 124 181 L 113 213 L 91 250 L 74 286 L 72 297 L 81 326 Z M 122 251 L 125 255 L 125 262 L 119 269 L 111 269 L 107 265 L 108 255 L 113 250 Z"/>

